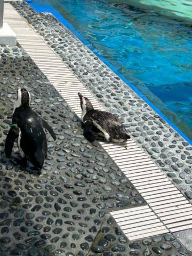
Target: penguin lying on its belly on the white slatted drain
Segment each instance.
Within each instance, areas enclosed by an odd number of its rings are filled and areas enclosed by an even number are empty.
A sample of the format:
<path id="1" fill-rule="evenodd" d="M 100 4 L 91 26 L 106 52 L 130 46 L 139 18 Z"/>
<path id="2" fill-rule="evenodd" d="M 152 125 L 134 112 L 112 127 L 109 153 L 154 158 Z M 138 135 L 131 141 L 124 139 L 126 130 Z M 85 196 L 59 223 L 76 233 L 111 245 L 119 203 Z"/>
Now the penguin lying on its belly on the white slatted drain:
<path id="1" fill-rule="evenodd" d="M 82 123 L 84 137 L 93 142 L 96 137 L 93 133 L 101 134 L 108 142 L 125 142 L 130 139 L 125 126 L 113 114 L 107 111 L 95 110 L 89 99 L 78 93 L 82 108 Z"/>

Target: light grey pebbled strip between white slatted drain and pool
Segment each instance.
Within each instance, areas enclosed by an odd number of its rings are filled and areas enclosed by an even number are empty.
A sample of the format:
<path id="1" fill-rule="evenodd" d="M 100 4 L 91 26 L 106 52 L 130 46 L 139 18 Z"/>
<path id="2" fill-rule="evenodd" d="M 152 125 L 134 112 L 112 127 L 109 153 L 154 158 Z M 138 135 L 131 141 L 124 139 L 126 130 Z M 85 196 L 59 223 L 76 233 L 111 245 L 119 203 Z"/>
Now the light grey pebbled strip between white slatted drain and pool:
<path id="1" fill-rule="evenodd" d="M 191 145 L 51 14 L 24 2 L 12 5 L 191 201 Z"/>

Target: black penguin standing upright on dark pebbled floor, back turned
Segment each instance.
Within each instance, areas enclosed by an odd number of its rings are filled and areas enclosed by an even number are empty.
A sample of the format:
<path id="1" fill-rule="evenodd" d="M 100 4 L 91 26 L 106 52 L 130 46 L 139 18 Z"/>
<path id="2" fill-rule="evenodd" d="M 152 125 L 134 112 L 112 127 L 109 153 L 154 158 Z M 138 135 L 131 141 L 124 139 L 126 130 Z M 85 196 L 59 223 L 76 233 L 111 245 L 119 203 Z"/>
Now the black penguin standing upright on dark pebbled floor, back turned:
<path id="1" fill-rule="evenodd" d="M 17 139 L 22 165 L 26 166 L 29 161 L 39 170 L 42 169 L 47 156 L 47 141 L 43 127 L 54 140 L 56 136 L 49 124 L 30 108 L 29 101 L 29 92 L 24 88 L 18 89 L 11 129 L 5 141 L 5 155 L 11 156 L 14 141 Z"/>

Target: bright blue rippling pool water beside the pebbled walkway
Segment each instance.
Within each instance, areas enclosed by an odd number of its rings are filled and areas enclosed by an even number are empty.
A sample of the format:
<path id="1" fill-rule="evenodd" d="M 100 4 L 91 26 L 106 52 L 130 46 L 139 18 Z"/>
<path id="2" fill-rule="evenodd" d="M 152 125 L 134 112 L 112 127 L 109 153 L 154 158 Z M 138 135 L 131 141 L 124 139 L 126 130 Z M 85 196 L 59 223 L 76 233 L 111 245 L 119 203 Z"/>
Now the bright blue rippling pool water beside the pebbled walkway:
<path id="1" fill-rule="evenodd" d="M 31 6 L 64 17 L 192 142 L 190 26 L 118 0 L 33 0 Z"/>

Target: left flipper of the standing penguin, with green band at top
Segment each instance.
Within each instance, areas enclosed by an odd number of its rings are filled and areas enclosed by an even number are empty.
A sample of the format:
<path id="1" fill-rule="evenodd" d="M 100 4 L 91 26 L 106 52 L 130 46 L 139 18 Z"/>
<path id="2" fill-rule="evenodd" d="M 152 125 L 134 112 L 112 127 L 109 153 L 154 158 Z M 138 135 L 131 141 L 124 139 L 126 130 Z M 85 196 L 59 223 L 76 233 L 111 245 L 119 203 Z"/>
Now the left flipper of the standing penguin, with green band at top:
<path id="1" fill-rule="evenodd" d="M 5 140 L 5 155 L 10 157 L 14 145 L 14 141 L 19 137 L 19 128 L 11 127 Z"/>

